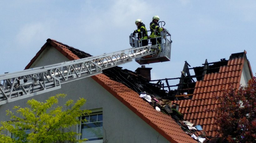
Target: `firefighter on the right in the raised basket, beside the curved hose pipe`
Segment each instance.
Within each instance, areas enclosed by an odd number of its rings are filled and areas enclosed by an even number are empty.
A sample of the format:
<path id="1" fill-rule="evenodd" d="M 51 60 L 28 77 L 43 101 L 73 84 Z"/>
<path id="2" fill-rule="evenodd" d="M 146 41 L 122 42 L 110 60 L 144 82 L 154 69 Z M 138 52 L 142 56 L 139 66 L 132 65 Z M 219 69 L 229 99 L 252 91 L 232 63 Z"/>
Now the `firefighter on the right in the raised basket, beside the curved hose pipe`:
<path id="1" fill-rule="evenodd" d="M 155 15 L 153 16 L 152 22 L 150 23 L 151 45 L 161 44 L 160 32 L 163 31 L 164 29 L 159 27 L 158 21 L 159 21 L 159 16 Z"/>

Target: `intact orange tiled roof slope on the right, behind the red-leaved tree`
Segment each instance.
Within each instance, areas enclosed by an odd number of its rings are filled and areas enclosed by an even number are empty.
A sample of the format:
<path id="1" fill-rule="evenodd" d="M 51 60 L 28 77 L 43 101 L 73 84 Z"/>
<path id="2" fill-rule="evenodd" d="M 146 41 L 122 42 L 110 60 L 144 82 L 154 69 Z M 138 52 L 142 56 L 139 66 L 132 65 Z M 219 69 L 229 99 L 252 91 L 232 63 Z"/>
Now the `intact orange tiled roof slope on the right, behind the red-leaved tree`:
<path id="1" fill-rule="evenodd" d="M 214 96 L 220 96 L 221 90 L 228 89 L 230 84 L 239 88 L 246 51 L 242 57 L 231 58 L 227 66 L 221 66 L 218 73 L 204 75 L 202 81 L 197 81 L 191 100 L 175 101 L 180 105 L 179 111 L 184 114 L 184 119 L 192 123 L 202 125 L 203 130 L 209 136 L 214 136 L 215 112 L 219 103 Z"/>

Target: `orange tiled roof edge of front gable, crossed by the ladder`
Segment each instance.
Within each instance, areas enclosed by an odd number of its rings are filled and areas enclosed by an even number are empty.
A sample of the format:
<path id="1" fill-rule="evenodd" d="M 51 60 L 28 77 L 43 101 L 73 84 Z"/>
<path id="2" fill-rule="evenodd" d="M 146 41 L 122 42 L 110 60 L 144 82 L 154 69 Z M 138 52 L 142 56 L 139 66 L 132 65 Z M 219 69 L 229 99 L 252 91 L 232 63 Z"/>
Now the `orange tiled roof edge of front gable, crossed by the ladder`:
<path id="1" fill-rule="evenodd" d="M 32 63 L 49 44 L 55 47 L 69 60 L 77 60 L 83 56 L 91 56 L 90 54 L 62 44 L 61 42 L 57 42 L 56 40 L 47 39 L 47 42 L 42 46 L 40 51 L 37 52 L 36 56 L 30 61 L 25 69 L 28 69 L 32 65 Z M 104 74 L 98 74 L 92 76 L 92 78 L 124 105 L 126 105 L 129 109 L 131 109 L 131 111 L 133 111 L 136 115 L 138 115 L 141 119 L 153 127 L 157 132 L 164 136 L 168 141 L 172 143 L 197 142 L 189 135 L 187 135 L 171 116 L 156 111 L 150 104 L 141 99 L 138 93 L 128 88 L 124 84 L 116 82 Z"/>

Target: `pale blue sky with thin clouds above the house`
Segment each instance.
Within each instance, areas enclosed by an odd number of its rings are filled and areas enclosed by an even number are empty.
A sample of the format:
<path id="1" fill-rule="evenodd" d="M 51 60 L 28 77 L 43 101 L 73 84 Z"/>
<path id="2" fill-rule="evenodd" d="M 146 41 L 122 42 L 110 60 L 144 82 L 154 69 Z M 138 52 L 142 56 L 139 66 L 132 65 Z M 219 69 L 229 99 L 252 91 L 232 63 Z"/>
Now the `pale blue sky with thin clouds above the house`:
<path id="1" fill-rule="evenodd" d="M 2 0 L 0 8 L 0 74 L 23 70 L 48 38 L 93 56 L 130 48 L 135 20 L 149 30 L 154 15 L 173 43 L 170 61 L 146 65 L 152 80 L 180 77 L 184 61 L 197 67 L 244 50 L 256 73 L 255 0 Z"/>

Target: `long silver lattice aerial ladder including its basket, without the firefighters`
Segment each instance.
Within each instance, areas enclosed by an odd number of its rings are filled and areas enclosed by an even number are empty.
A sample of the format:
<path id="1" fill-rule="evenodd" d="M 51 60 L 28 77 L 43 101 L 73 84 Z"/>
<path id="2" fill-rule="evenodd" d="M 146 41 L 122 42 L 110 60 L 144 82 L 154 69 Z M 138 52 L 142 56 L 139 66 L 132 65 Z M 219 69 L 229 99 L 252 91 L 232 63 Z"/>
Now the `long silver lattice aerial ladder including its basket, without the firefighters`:
<path id="1" fill-rule="evenodd" d="M 132 48 L 126 50 L 0 75 L 0 105 L 60 89 L 64 83 L 101 74 L 104 69 L 133 59 L 141 65 L 170 61 L 172 41 L 168 30 L 161 32 L 159 45 L 141 47 L 141 40 L 135 36 L 130 35 Z M 161 49 L 153 50 L 157 46 Z"/>

